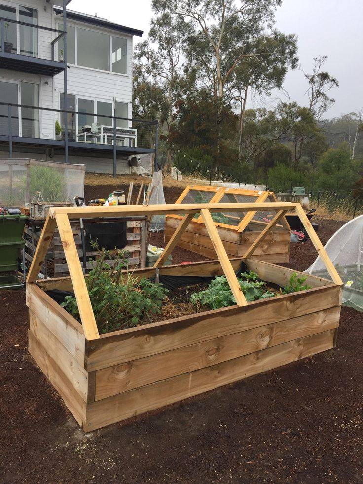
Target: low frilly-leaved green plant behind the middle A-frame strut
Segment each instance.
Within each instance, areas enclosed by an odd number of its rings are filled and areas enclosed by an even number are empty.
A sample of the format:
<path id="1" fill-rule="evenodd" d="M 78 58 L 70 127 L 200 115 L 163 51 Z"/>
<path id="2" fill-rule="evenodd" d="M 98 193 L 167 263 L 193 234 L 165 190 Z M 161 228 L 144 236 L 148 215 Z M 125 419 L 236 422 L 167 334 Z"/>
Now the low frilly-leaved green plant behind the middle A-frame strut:
<path id="1" fill-rule="evenodd" d="M 275 296 L 275 293 L 265 290 L 266 283 L 259 281 L 255 272 L 242 273 L 240 278 L 238 278 L 238 282 L 245 298 L 249 302 Z M 192 294 L 190 300 L 193 303 L 199 300 L 201 304 L 211 309 L 219 309 L 236 304 L 236 299 L 232 294 L 225 276 L 215 277 L 208 286 L 208 289 Z"/>

